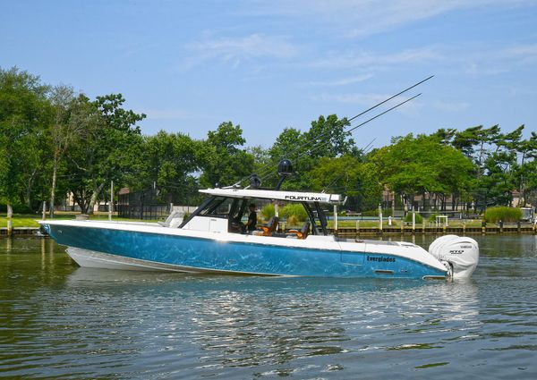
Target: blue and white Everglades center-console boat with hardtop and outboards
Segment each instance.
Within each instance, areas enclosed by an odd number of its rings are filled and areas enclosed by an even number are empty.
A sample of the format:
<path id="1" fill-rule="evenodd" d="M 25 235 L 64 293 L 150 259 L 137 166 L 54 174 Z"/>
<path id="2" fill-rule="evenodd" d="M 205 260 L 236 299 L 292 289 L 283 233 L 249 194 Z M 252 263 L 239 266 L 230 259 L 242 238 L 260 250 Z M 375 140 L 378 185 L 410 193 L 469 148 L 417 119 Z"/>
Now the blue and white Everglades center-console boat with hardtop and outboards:
<path id="1" fill-rule="evenodd" d="M 92 220 L 39 221 L 79 265 L 124 270 L 276 276 L 457 279 L 471 276 L 476 241 L 442 236 L 430 251 L 411 242 L 347 239 L 328 233 L 325 208 L 343 197 L 324 192 L 223 188 L 200 190 L 208 198 L 192 215 L 166 223 Z M 300 230 L 281 228 L 277 216 L 254 231 L 243 220 L 252 203 L 303 205 Z M 279 227 L 279 228 L 278 228 Z"/>

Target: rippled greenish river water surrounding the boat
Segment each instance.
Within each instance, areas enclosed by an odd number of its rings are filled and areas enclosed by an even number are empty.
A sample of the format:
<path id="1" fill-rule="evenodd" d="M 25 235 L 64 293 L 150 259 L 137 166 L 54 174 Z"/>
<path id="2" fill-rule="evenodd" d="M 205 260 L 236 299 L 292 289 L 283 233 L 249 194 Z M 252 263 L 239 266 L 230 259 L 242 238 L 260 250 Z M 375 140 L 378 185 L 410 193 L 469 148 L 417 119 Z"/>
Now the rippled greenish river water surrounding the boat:
<path id="1" fill-rule="evenodd" d="M 537 237 L 476 239 L 466 283 L 91 270 L 0 240 L 0 377 L 537 378 Z"/>

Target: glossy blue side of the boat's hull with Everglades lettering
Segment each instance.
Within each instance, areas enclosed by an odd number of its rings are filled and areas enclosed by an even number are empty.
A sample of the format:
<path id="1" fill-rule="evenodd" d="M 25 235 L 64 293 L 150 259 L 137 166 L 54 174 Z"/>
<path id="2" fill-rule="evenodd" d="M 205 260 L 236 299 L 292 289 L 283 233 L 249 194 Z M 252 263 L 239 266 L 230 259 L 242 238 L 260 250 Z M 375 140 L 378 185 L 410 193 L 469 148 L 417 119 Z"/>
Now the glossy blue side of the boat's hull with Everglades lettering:
<path id="1" fill-rule="evenodd" d="M 115 229 L 48 224 L 59 244 L 117 258 L 192 268 L 196 272 L 325 277 L 444 277 L 408 258 L 366 252 L 305 249 Z"/>

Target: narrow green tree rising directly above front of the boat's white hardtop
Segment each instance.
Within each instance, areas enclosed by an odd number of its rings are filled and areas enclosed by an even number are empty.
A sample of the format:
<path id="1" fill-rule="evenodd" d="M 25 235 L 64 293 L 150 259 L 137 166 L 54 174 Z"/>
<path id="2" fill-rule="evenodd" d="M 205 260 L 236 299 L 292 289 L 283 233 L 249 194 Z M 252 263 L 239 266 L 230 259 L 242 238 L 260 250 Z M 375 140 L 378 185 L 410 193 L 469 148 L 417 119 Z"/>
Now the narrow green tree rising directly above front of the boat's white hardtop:
<path id="1" fill-rule="evenodd" d="M 203 154 L 200 183 L 206 187 L 229 186 L 247 177 L 253 170 L 253 156 L 239 148 L 244 145 L 240 125 L 222 122 L 217 131 L 209 131 Z"/>

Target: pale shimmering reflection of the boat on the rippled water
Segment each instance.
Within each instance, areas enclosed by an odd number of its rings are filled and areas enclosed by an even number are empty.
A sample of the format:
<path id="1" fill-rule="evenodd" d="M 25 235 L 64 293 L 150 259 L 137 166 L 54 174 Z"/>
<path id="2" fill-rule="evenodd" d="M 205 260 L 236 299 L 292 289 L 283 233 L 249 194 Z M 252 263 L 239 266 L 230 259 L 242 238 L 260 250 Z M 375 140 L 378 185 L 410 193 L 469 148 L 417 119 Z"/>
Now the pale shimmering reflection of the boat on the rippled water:
<path id="1" fill-rule="evenodd" d="M 423 344 L 441 348 L 442 341 L 465 339 L 480 325 L 472 281 L 163 275 L 79 268 L 69 275 L 67 286 L 98 305 L 101 323 L 119 328 L 115 334 L 129 336 L 140 348 L 165 340 L 170 352 L 190 352 L 199 374 L 209 367 L 225 371 L 253 366 L 262 374 L 274 371 L 275 365 L 283 371 L 279 375 L 313 367 L 338 370 L 353 358 L 420 349 Z M 301 360 L 309 357 L 318 359 L 315 364 L 308 360 L 309 369 L 304 369 Z"/>

